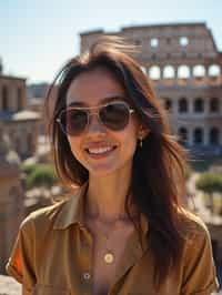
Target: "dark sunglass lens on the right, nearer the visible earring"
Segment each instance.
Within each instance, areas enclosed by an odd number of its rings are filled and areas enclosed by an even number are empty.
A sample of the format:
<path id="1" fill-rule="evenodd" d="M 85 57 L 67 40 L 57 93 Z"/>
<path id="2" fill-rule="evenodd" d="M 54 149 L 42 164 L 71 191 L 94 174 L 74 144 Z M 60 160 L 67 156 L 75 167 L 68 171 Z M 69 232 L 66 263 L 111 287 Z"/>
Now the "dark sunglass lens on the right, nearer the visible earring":
<path id="1" fill-rule="evenodd" d="M 110 103 L 100 110 L 103 124 L 112 130 L 121 130 L 129 122 L 129 109 L 124 103 Z"/>

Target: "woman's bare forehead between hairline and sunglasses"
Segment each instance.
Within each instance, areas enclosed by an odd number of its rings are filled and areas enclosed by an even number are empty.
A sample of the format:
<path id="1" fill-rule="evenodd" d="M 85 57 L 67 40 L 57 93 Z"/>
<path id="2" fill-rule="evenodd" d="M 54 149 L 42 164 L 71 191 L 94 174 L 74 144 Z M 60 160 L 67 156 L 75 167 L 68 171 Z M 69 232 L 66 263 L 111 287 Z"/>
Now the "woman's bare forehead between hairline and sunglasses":
<path id="1" fill-rule="evenodd" d="M 118 96 L 125 96 L 124 88 L 109 70 L 97 68 L 81 73 L 71 82 L 67 105 L 73 102 L 97 105 Z"/>

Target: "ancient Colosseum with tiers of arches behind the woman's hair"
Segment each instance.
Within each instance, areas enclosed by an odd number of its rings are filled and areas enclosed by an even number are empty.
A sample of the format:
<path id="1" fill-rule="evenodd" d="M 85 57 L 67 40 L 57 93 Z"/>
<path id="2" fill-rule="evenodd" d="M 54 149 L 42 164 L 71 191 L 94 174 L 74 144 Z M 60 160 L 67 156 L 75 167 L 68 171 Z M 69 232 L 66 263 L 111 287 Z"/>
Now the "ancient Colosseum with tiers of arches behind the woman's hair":
<path id="1" fill-rule="evenodd" d="M 195 154 L 222 154 L 222 52 L 201 23 L 173 23 L 80 34 L 81 52 L 99 37 L 140 47 L 135 58 L 168 110 L 173 133 Z"/>

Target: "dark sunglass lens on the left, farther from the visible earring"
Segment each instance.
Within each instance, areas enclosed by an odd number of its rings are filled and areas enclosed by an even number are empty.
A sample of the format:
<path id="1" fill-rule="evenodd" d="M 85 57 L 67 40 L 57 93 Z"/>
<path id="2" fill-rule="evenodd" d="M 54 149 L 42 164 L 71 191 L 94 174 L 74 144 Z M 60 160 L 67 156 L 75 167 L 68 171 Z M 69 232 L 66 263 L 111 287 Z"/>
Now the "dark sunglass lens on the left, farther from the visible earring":
<path id="1" fill-rule="evenodd" d="M 82 110 L 67 110 L 62 113 L 61 123 L 65 133 L 70 135 L 80 134 L 88 122 L 88 114 Z"/>

